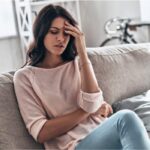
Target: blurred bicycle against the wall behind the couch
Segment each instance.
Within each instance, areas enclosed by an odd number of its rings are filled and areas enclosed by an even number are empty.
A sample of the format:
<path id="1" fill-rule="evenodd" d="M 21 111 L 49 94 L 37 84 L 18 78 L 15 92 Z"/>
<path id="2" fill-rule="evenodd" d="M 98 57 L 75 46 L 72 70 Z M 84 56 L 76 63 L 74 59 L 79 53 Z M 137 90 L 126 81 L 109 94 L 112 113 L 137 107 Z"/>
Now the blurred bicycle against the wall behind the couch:
<path id="1" fill-rule="evenodd" d="M 100 47 L 114 44 L 138 43 L 130 31 L 136 31 L 138 27 L 150 26 L 150 23 L 132 23 L 130 18 L 112 18 L 105 23 L 104 30 L 107 38 L 100 44 Z M 115 26 L 115 29 L 111 29 Z"/>

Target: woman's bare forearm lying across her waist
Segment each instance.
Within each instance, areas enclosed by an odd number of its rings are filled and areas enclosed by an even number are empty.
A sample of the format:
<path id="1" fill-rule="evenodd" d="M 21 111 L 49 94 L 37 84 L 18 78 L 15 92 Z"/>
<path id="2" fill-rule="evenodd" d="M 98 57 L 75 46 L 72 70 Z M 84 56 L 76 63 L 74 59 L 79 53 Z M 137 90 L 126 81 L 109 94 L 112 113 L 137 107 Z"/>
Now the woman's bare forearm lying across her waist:
<path id="1" fill-rule="evenodd" d="M 88 116 L 89 113 L 79 108 L 70 114 L 48 120 L 39 132 L 38 142 L 44 143 L 68 132 Z"/>

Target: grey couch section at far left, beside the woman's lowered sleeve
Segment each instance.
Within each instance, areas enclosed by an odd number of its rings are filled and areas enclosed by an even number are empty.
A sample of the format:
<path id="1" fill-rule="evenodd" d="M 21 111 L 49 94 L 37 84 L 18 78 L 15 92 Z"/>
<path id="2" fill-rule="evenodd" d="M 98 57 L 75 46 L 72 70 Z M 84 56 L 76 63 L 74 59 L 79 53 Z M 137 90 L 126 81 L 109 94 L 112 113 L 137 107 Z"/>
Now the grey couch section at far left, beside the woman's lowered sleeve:
<path id="1" fill-rule="evenodd" d="M 0 150 L 43 149 L 29 135 L 21 118 L 11 74 L 0 75 Z"/>

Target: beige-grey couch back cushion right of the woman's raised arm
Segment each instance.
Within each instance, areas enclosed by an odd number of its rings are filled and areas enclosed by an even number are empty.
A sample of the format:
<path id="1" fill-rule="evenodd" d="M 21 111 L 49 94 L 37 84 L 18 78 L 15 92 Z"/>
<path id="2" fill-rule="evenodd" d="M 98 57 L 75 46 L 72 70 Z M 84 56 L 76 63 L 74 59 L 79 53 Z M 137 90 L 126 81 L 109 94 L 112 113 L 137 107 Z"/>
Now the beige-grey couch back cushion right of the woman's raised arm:
<path id="1" fill-rule="evenodd" d="M 150 44 L 88 48 L 88 54 L 110 104 L 150 89 Z"/>

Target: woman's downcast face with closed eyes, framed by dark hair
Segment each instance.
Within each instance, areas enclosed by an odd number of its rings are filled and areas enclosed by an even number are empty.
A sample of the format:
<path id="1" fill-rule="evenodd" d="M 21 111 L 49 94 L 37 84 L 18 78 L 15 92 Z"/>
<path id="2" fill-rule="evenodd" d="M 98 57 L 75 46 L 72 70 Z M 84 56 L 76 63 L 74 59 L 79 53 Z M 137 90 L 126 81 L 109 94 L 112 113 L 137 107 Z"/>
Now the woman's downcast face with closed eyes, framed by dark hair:
<path id="1" fill-rule="evenodd" d="M 61 55 L 70 40 L 70 35 L 64 31 L 65 21 L 67 20 L 62 17 L 54 19 L 44 38 L 44 46 L 52 55 Z"/>

